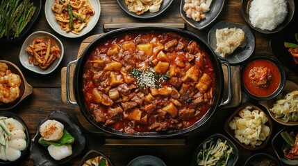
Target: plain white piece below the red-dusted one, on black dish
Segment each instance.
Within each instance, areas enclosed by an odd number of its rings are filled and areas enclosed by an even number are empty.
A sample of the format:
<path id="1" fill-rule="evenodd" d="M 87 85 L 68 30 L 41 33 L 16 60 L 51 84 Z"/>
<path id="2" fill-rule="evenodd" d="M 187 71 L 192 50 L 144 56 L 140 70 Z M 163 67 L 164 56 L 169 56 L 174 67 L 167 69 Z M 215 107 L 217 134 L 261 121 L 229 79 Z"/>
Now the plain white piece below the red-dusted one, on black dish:
<path id="1" fill-rule="evenodd" d="M 62 145 L 62 146 L 49 145 L 48 151 L 53 159 L 61 160 L 63 158 L 66 158 L 67 156 L 72 155 L 72 145 Z"/>

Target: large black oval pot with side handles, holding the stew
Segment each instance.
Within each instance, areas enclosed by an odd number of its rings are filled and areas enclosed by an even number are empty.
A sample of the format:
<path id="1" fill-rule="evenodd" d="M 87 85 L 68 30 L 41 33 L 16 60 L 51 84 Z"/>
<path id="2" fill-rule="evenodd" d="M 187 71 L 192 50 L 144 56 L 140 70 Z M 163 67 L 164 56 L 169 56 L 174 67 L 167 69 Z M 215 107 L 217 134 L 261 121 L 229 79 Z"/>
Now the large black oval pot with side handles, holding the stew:
<path id="1" fill-rule="evenodd" d="M 92 51 L 99 46 L 99 44 L 103 43 L 104 41 L 107 41 L 108 39 L 113 39 L 115 37 L 119 37 L 126 34 L 131 33 L 148 33 L 148 32 L 155 32 L 155 33 L 176 33 L 181 35 L 182 37 L 194 40 L 203 48 L 208 56 L 210 57 L 210 60 L 212 62 L 214 73 L 215 73 L 215 92 L 213 95 L 213 104 L 212 106 L 206 111 L 205 115 L 202 116 L 201 119 L 197 120 L 192 126 L 186 128 L 186 129 L 173 129 L 173 130 L 167 130 L 167 131 L 148 131 L 148 132 L 136 132 L 133 134 L 125 133 L 124 131 L 117 131 L 115 129 L 112 129 L 111 127 L 108 127 L 104 125 L 103 123 L 97 122 L 95 120 L 94 116 L 90 113 L 88 110 L 87 104 L 85 102 L 84 94 L 83 94 L 83 69 L 84 65 L 88 60 L 89 55 L 92 53 Z M 190 33 L 186 30 L 180 30 L 177 28 L 169 28 L 169 27 L 161 27 L 161 26 L 146 26 L 146 27 L 131 27 L 131 28 L 121 28 L 117 30 L 110 31 L 109 33 L 105 33 L 104 35 L 101 35 L 97 39 L 94 39 L 92 43 L 88 45 L 87 48 L 83 51 L 81 57 L 77 59 L 74 62 L 69 62 L 67 65 L 68 67 L 72 64 L 76 63 L 76 68 L 74 71 L 74 96 L 76 98 L 76 103 L 78 104 L 78 107 L 80 107 L 81 113 L 83 116 L 92 124 L 94 127 L 97 127 L 98 129 L 101 129 L 102 131 L 105 131 L 106 133 L 112 134 L 114 136 L 122 136 L 126 138 L 165 138 L 165 137 L 171 137 L 171 136 L 181 136 L 185 133 L 189 133 L 191 131 L 198 131 L 199 129 L 202 129 L 203 127 L 206 127 L 206 124 L 208 124 L 208 120 L 214 115 L 215 110 L 217 107 L 220 107 L 221 105 L 224 105 L 226 102 L 222 102 L 222 95 L 224 93 L 224 77 L 223 77 L 223 71 L 222 71 L 222 64 L 218 61 L 217 57 L 214 55 L 213 50 L 208 46 L 208 44 L 201 39 L 199 36 L 195 35 L 194 33 Z M 229 66 L 228 63 L 226 63 L 227 66 Z M 68 82 L 70 83 L 70 82 Z M 68 91 L 69 92 L 69 91 Z M 68 93 L 69 94 L 69 93 Z M 229 102 L 229 101 L 228 101 Z M 73 103 L 73 102 L 72 102 Z"/>

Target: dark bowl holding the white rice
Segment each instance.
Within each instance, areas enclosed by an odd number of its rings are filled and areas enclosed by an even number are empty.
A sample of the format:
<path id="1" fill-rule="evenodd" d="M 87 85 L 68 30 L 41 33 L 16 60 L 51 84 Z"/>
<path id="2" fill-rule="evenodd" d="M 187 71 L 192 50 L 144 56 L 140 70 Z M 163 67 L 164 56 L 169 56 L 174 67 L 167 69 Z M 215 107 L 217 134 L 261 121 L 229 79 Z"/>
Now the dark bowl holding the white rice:
<path id="1" fill-rule="evenodd" d="M 292 17 L 294 16 L 294 13 L 295 13 L 294 0 L 286 0 L 288 3 L 288 15 L 285 17 L 285 20 L 283 20 L 283 22 L 281 24 L 279 24 L 279 26 L 277 26 L 274 30 L 262 30 L 260 28 L 256 28 L 256 27 L 252 26 L 251 20 L 249 19 L 249 8 L 251 5 L 251 1 L 253 1 L 253 0 L 242 0 L 242 2 L 241 2 L 242 16 L 245 19 L 245 21 L 247 22 L 247 24 L 249 24 L 249 26 L 251 26 L 251 28 L 258 31 L 259 33 L 272 34 L 272 33 L 279 32 L 280 30 L 285 28 L 285 26 L 288 26 L 288 24 L 292 20 Z"/>

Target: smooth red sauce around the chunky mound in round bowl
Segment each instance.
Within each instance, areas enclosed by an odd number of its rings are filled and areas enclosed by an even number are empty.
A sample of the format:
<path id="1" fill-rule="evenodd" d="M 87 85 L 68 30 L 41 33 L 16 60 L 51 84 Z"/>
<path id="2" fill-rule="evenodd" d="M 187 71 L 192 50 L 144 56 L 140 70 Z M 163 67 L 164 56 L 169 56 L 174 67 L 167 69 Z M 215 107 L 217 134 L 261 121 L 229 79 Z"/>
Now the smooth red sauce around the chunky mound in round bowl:
<path id="1" fill-rule="evenodd" d="M 256 86 L 256 84 L 251 82 L 249 72 L 256 68 L 266 68 L 270 70 L 270 82 L 268 82 L 266 86 Z M 262 78 L 262 76 L 260 76 L 260 78 Z M 281 73 L 279 72 L 279 68 L 269 60 L 256 59 L 252 62 L 249 62 L 249 64 L 247 64 L 245 67 L 245 70 L 242 72 L 242 81 L 245 85 L 245 89 L 247 89 L 251 95 L 255 95 L 257 97 L 267 97 L 272 95 L 272 93 L 279 88 L 279 84 L 281 82 Z"/>

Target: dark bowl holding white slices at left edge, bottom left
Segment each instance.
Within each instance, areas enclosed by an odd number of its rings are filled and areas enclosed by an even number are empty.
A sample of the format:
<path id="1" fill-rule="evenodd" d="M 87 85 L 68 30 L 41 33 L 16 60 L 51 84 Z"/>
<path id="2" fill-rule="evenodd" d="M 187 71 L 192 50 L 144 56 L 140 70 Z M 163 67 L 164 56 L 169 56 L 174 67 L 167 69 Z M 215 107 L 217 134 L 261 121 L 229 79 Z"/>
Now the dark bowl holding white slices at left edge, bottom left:
<path id="1" fill-rule="evenodd" d="M 24 158 L 24 156 L 26 156 L 28 150 L 30 149 L 30 133 L 29 133 L 29 129 L 27 127 L 27 124 L 26 122 L 24 122 L 24 120 L 17 116 L 17 114 L 15 113 L 11 113 L 11 112 L 8 112 L 8 111 L 0 111 L 0 116 L 4 116 L 4 117 L 7 117 L 7 118 L 13 118 L 17 121 L 19 121 L 23 127 L 25 128 L 25 134 L 26 134 L 26 149 L 24 149 L 24 151 L 21 151 L 22 154 L 19 158 L 17 158 L 17 160 L 14 160 L 14 161 L 5 161 L 5 160 L 0 160 L 0 165 L 17 165 L 17 163 L 22 160 L 22 158 Z"/>

